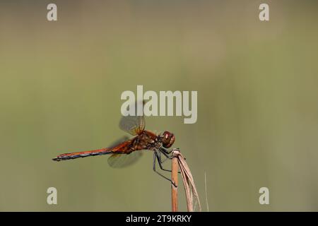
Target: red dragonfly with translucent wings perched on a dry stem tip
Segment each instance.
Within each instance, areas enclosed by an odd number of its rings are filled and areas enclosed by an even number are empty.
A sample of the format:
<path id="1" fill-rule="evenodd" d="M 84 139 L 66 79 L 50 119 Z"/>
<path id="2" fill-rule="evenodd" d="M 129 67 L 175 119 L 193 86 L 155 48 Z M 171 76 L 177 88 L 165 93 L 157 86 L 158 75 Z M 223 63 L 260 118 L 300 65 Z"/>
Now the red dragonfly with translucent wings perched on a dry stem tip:
<path id="1" fill-rule="evenodd" d="M 160 135 L 156 135 L 151 131 L 145 130 L 145 119 L 141 116 L 126 116 L 122 117 L 119 122 L 119 128 L 134 135 L 134 138 L 123 141 L 111 148 L 102 148 L 98 150 L 87 150 L 76 153 L 66 153 L 54 157 L 54 161 L 73 160 L 78 157 L 88 157 L 95 155 L 109 155 L 108 164 L 111 167 L 124 167 L 136 162 L 141 156 L 141 150 L 153 150 L 153 171 L 158 173 L 161 177 L 172 182 L 169 178 L 155 170 L 156 160 L 160 169 L 171 171 L 163 168 L 161 154 L 165 155 L 166 159 L 171 159 L 171 151 L 167 150 L 175 142 L 175 135 L 168 131 Z M 173 183 L 172 183 L 173 184 Z"/>

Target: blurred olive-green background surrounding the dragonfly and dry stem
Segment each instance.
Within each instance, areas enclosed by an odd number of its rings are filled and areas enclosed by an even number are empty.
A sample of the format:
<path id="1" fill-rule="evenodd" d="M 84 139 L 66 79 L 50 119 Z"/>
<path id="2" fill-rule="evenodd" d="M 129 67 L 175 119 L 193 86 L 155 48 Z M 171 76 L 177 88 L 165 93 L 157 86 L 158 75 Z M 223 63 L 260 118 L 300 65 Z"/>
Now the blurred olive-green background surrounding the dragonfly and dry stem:
<path id="1" fill-rule="evenodd" d="M 196 124 L 146 128 L 175 133 L 204 211 L 205 172 L 210 211 L 318 210 L 314 1 L 54 1 L 49 22 L 51 2 L 0 4 L 0 210 L 170 211 L 150 152 L 124 169 L 51 160 L 125 135 L 120 95 L 136 85 L 198 91 Z"/>

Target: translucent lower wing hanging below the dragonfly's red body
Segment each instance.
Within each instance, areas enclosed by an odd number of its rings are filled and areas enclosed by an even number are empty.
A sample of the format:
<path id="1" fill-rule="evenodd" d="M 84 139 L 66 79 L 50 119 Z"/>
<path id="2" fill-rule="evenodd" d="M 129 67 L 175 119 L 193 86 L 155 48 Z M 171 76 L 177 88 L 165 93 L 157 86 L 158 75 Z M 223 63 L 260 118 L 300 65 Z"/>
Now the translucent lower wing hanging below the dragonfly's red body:
<path id="1" fill-rule="evenodd" d="M 112 154 L 108 158 L 108 164 L 113 168 L 122 168 L 133 165 L 143 155 L 141 150 L 135 150 L 130 154 Z"/>

